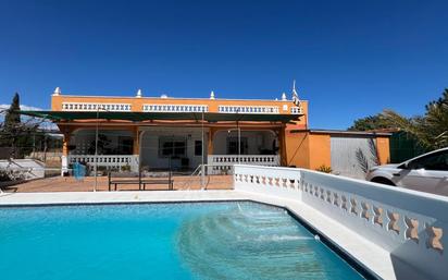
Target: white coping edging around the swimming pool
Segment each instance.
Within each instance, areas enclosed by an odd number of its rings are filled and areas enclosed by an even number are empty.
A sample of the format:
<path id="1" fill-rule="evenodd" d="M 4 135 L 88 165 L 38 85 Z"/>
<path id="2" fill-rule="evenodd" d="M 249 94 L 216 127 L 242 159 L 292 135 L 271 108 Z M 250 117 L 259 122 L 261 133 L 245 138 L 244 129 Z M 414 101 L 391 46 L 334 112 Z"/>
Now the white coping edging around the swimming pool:
<path id="1" fill-rule="evenodd" d="M 298 210 L 304 207 L 304 204 L 297 200 L 290 200 L 278 197 L 269 197 L 264 195 L 247 193 L 234 190 L 220 191 L 158 191 L 158 192 L 73 192 L 73 193 L 7 193 L 0 195 L 0 207 L 45 207 L 45 206 L 67 206 L 67 205 L 120 205 L 120 204 L 170 204 L 170 203 L 225 203 L 225 202 L 252 202 L 285 209 L 295 220 L 306 227 L 312 234 L 318 234 L 329 249 L 341 257 L 350 267 L 359 272 L 365 279 L 396 279 L 393 269 L 382 269 L 378 271 L 370 268 L 364 264 L 358 254 L 353 251 L 344 248 L 339 245 L 332 232 L 325 229 L 319 229 L 313 221 L 307 220 L 303 212 Z M 294 203 L 294 205 L 291 204 Z M 309 206 L 307 206 L 309 207 Z M 306 207 L 306 208 L 307 208 Z M 315 211 L 315 210 L 314 210 Z M 315 211 L 316 212 L 316 211 Z M 301 215 L 302 214 L 302 215 Z M 322 217 L 321 217 L 322 218 Z M 329 219 L 329 218 L 326 218 Z M 347 231 L 347 230 L 346 230 Z M 352 235 L 349 231 L 347 234 Z M 362 236 L 358 236 L 360 239 Z M 374 244 L 372 244 L 374 245 Z M 369 248 L 368 248 L 369 249 Z M 368 251 L 364 249 L 364 251 Z M 376 248 L 377 251 L 377 248 Z M 375 252 L 375 251 L 373 251 Z M 364 252 L 365 253 L 365 252 Z M 383 252 L 384 255 L 385 252 Z M 358 255 L 358 256 L 357 256 Z M 382 254 L 383 255 L 383 254 Z M 383 257 L 384 257 L 383 255 Z M 377 261 L 376 261 L 377 263 Z M 385 266 L 389 261 L 384 261 Z"/>

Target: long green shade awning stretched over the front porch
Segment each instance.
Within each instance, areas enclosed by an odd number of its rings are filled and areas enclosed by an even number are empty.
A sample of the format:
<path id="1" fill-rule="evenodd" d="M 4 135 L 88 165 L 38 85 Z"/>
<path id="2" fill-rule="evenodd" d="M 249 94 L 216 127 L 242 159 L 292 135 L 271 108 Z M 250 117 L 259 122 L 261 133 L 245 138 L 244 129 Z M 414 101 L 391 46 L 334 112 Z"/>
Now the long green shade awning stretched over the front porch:
<path id="1" fill-rule="evenodd" d="M 52 121 L 73 120 L 122 120 L 122 121 L 151 121 L 151 120 L 202 120 L 200 112 L 74 112 L 74 111 L 20 111 L 21 114 L 43 118 Z M 271 113 L 203 113 L 204 121 L 251 121 L 251 122 L 289 122 L 298 120 L 302 114 L 271 114 Z"/>

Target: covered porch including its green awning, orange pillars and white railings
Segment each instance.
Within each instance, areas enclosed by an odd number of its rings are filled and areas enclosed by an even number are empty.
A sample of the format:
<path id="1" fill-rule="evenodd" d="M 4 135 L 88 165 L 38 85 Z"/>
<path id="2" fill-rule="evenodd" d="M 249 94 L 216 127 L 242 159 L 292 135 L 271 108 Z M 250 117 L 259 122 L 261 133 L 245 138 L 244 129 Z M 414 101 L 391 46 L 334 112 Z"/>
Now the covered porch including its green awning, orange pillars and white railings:
<path id="1" fill-rule="evenodd" d="M 27 111 L 64 134 L 62 173 L 75 162 L 98 171 L 182 170 L 227 173 L 235 163 L 279 166 L 295 114 Z"/>

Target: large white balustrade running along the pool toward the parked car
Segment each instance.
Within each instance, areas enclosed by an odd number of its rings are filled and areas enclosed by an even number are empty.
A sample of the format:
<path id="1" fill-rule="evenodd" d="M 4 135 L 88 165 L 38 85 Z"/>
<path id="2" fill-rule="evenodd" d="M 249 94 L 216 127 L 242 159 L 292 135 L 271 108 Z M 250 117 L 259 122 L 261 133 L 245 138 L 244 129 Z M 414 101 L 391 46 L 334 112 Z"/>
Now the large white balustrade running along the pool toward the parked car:
<path id="1" fill-rule="evenodd" d="M 235 190 L 296 199 L 428 279 L 448 275 L 448 197 L 322 172 L 234 166 Z"/>

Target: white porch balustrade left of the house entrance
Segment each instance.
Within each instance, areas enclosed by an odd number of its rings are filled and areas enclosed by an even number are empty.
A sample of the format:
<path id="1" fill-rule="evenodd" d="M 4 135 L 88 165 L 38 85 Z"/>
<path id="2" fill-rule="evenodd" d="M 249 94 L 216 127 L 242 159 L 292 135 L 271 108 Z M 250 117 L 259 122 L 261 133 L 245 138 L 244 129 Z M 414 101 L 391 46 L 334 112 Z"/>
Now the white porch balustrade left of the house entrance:
<path id="1" fill-rule="evenodd" d="M 69 163 L 85 162 L 95 166 L 95 155 L 70 155 Z M 138 155 L 98 155 L 98 166 L 107 168 L 122 168 L 129 166 L 130 170 L 138 170 Z"/>

